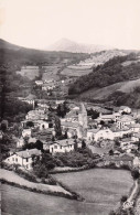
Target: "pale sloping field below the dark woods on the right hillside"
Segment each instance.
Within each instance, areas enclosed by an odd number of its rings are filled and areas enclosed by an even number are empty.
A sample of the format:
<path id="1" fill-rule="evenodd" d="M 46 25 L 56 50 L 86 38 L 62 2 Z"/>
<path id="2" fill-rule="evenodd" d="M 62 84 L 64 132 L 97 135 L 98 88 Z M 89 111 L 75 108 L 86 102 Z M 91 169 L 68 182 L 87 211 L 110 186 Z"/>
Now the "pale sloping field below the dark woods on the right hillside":
<path id="1" fill-rule="evenodd" d="M 116 90 L 130 93 L 134 87 L 140 86 L 140 78 L 128 82 L 120 82 L 114 85 L 109 85 L 107 87 L 103 87 L 100 89 L 89 89 L 80 95 L 82 98 L 90 97 L 93 99 L 106 99 L 110 94 Z"/>

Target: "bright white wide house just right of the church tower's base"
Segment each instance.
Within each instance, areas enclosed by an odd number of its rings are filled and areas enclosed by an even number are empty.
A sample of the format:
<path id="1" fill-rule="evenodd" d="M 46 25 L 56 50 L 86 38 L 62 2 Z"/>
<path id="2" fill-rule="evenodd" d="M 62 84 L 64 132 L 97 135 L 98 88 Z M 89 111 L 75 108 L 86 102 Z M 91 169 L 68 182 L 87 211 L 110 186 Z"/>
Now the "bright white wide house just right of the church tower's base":
<path id="1" fill-rule="evenodd" d="M 87 130 L 87 140 L 97 141 L 99 139 L 114 140 L 115 136 L 114 132 L 107 127 Z"/>

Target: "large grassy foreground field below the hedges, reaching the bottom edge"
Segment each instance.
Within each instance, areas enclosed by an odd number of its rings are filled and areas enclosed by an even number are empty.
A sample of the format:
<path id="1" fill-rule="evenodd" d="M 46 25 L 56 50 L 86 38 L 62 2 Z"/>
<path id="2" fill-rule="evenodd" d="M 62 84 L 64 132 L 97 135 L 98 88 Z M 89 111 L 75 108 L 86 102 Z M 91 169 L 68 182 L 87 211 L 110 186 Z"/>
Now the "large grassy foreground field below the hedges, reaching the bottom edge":
<path id="1" fill-rule="evenodd" d="M 130 173 L 122 170 L 94 169 L 55 176 L 86 201 L 36 194 L 2 184 L 2 212 L 12 215 L 108 215 L 132 186 Z"/>

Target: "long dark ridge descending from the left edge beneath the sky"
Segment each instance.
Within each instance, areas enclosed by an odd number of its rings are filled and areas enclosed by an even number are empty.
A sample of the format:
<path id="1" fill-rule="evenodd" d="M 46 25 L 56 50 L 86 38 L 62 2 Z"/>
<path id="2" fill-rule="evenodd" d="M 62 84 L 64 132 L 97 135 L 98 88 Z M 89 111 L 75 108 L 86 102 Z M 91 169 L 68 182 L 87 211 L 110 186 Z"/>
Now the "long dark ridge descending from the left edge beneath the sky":
<path id="1" fill-rule="evenodd" d="M 88 58 L 88 54 L 68 53 L 68 52 L 53 52 L 41 51 L 34 49 L 26 49 L 11 44 L 0 39 L 0 64 L 9 65 L 52 65 L 78 63 Z"/>

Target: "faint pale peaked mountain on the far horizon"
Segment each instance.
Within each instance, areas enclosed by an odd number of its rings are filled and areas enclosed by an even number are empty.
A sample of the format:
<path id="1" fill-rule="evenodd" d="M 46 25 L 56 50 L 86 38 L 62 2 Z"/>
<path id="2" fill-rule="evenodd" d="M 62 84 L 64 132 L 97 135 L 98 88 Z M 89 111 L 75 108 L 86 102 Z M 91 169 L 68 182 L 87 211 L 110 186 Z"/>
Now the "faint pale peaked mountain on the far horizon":
<path id="1" fill-rule="evenodd" d="M 61 39 L 56 43 L 47 46 L 46 50 L 47 51 L 72 52 L 72 53 L 95 53 L 95 52 L 100 52 L 104 50 L 112 50 L 112 47 L 76 43 L 67 39 Z"/>

